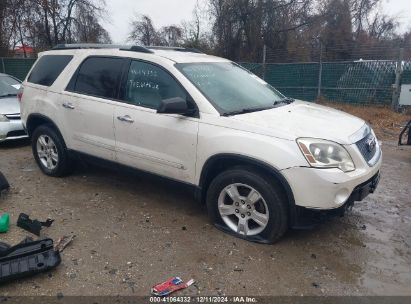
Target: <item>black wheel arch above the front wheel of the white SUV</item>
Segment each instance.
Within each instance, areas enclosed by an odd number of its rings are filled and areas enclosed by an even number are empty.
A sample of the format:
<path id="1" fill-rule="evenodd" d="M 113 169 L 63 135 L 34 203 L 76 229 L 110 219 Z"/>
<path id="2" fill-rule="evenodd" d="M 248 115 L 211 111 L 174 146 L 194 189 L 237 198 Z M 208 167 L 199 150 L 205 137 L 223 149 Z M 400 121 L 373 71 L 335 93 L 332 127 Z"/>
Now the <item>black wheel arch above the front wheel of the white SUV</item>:
<path id="1" fill-rule="evenodd" d="M 277 188 L 280 190 L 279 194 L 283 196 L 283 198 L 287 201 L 287 204 L 289 206 L 288 213 L 291 220 L 290 222 L 293 222 L 296 208 L 294 195 L 287 180 L 277 169 L 273 168 L 272 166 L 246 156 L 224 154 L 213 156 L 209 160 L 207 160 L 200 178 L 202 203 L 205 203 L 208 187 L 210 186 L 214 177 L 216 177 L 221 172 L 235 167 L 246 167 L 250 170 L 263 174 L 267 178 L 270 178 L 271 182 L 275 183 Z"/>

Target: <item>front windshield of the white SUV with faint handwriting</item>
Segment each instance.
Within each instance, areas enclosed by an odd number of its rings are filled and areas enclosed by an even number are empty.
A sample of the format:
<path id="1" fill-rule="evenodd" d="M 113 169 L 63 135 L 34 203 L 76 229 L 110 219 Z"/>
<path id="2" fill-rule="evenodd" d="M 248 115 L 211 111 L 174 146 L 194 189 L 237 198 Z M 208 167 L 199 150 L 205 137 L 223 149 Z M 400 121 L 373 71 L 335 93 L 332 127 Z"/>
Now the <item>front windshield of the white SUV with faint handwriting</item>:
<path id="1" fill-rule="evenodd" d="M 285 99 L 265 81 L 232 62 L 176 66 L 222 115 L 271 109 Z"/>

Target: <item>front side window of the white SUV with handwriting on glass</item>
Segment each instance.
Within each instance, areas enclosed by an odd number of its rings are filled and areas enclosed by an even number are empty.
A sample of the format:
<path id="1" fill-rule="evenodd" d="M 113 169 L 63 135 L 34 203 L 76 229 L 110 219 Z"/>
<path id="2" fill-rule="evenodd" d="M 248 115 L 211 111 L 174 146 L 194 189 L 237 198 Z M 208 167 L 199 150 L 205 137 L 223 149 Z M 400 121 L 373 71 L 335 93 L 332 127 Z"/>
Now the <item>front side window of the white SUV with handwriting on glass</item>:
<path id="1" fill-rule="evenodd" d="M 169 73 L 146 62 L 131 62 L 125 90 L 126 102 L 157 109 L 163 99 L 174 97 L 187 99 L 187 94 Z"/>

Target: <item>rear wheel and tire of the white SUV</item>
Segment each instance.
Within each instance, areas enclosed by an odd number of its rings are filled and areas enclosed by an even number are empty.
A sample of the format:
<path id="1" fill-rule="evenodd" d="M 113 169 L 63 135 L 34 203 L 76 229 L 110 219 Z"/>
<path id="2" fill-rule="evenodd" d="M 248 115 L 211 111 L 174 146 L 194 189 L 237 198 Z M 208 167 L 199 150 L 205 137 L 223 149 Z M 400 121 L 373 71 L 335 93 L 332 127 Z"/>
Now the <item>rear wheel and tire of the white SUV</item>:
<path id="1" fill-rule="evenodd" d="M 34 159 L 41 171 L 53 177 L 63 177 L 73 171 L 73 161 L 63 138 L 50 125 L 37 127 L 31 137 Z"/>

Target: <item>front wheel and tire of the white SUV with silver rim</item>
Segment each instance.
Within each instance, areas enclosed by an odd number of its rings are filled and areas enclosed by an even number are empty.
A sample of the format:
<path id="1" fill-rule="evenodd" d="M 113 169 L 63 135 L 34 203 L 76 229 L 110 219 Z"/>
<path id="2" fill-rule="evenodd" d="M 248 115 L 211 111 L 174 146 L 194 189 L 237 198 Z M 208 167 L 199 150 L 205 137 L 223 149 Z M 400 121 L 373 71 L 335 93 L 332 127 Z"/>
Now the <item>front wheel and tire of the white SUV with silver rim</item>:
<path id="1" fill-rule="evenodd" d="M 218 228 L 249 241 L 271 244 L 288 228 L 287 203 L 276 183 L 249 168 L 230 169 L 214 178 L 207 208 Z"/>

